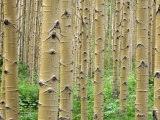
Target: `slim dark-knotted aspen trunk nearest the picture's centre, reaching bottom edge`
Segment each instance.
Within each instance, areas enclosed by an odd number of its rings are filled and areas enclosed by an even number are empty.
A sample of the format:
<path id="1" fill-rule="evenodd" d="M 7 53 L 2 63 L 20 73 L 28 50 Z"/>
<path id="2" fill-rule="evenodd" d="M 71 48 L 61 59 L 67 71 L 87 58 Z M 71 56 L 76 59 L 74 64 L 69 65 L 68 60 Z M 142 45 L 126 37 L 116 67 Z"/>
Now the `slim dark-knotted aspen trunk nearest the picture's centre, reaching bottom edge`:
<path id="1" fill-rule="evenodd" d="M 81 49 L 81 119 L 88 119 L 87 76 L 89 63 L 89 0 L 83 1 L 82 24 L 82 49 Z"/>

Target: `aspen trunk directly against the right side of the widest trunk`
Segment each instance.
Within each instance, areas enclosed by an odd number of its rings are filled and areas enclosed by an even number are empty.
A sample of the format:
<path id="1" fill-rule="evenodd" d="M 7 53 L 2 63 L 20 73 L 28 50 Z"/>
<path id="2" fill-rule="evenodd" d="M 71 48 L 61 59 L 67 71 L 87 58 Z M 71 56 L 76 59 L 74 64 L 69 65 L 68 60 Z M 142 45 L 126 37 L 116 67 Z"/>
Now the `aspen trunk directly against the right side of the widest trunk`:
<path id="1" fill-rule="evenodd" d="M 59 119 L 71 119 L 73 90 L 71 0 L 61 1 L 60 112 Z"/>

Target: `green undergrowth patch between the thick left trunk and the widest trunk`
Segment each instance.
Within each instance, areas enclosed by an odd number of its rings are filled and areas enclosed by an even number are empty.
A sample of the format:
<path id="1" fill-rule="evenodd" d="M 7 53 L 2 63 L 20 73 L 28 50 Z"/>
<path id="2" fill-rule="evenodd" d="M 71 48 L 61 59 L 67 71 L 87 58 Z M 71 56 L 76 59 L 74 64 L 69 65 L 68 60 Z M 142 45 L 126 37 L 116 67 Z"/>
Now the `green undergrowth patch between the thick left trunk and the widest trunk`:
<path id="1" fill-rule="evenodd" d="M 33 76 L 33 85 L 29 85 L 28 66 L 23 67 L 19 64 L 19 104 L 20 104 L 20 120 L 38 120 L 38 84 L 36 72 Z"/>

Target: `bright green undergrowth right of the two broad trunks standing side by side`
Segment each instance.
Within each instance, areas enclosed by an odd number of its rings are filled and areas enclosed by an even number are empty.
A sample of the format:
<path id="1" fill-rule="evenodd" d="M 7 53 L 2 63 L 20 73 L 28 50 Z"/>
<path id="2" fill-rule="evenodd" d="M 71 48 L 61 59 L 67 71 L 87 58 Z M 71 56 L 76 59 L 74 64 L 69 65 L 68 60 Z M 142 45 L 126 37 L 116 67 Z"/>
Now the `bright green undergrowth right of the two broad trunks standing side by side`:
<path id="1" fill-rule="evenodd" d="M 92 80 L 93 81 L 93 80 Z M 148 103 L 148 119 L 152 119 L 153 107 L 153 78 L 149 80 L 149 103 Z M 128 79 L 128 98 L 127 112 L 119 115 L 119 99 L 113 99 L 112 94 L 112 70 L 105 70 L 104 76 L 104 120 L 134 120 L 135 118 L 135 100 L 136 100 L 136 76 L 134 72 Z M 93 82 L 88 85 L 88 120 L 93 120 Z M 76 99 L 77 92 L 74 91 L 73 100 L 73 120 L 80 120 L 80 101 Z"/>

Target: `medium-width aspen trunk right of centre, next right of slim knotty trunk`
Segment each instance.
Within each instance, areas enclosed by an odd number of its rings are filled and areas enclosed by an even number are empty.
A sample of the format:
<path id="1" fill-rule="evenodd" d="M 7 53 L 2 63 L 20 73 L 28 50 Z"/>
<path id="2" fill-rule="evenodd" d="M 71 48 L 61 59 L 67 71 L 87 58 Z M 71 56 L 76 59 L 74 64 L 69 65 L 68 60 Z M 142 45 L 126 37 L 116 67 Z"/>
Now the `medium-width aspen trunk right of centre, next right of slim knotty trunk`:
<path id="1" fill-rule="evenodd" d="M 105 41 L 105 1 L 95 2 L 94 118 L 103 120 L 103 75 Z"/>

